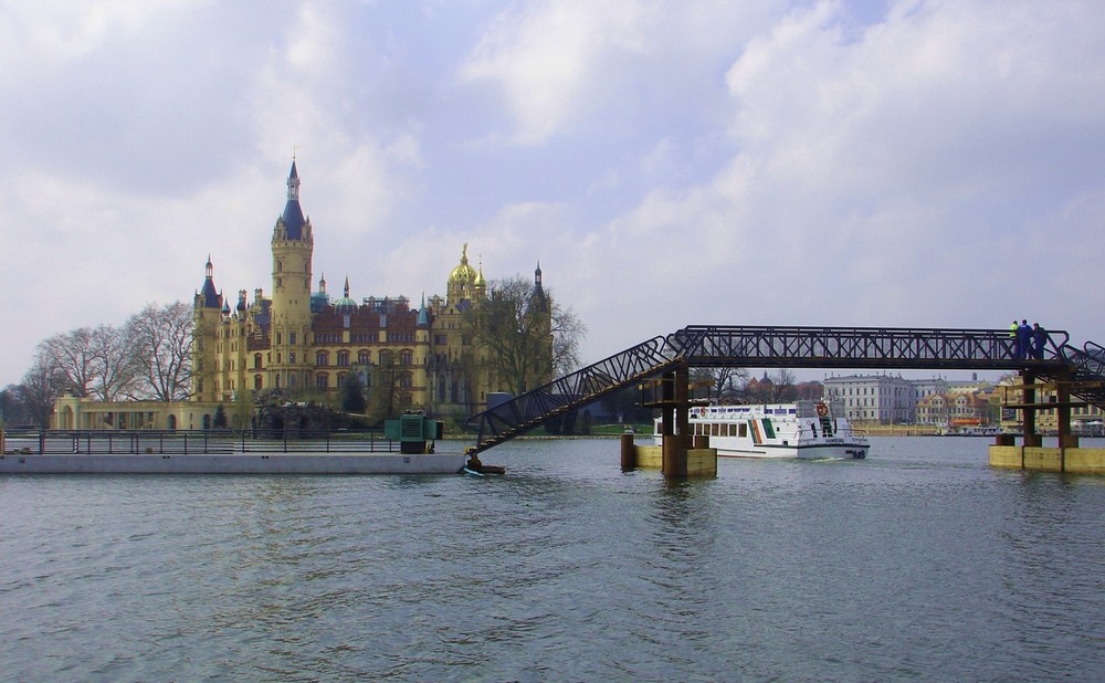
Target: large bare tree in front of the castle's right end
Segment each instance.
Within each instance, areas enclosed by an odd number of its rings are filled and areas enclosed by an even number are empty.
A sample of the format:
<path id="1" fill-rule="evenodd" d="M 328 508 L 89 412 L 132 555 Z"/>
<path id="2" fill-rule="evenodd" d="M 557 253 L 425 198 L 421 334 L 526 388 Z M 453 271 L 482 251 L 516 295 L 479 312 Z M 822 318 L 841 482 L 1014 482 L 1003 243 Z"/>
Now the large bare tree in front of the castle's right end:
<path id="1" fill-rule="evenodd" d="M 472 307 L 470 329 L 486 350 L 478 359 L 515 396 L 579 365 L 587 327 L 533 282 L 515 276 L 495 283 L 491 296 Z"/>

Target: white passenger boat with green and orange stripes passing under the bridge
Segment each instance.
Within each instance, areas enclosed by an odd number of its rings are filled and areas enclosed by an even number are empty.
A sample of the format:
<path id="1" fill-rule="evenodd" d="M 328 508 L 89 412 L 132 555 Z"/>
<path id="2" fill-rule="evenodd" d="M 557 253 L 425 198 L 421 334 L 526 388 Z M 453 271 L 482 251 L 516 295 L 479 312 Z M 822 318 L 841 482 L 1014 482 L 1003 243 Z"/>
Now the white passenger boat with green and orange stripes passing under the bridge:
<path id="1" fill-rule="evenodd" d="M 797 401 L 690 409 L 691 432 L 708 437 L 718 458 L 866 458 L 866 437 L 852 430 L 841 401 Z M 653 438 L 661 444 L 661 420 Z"/>

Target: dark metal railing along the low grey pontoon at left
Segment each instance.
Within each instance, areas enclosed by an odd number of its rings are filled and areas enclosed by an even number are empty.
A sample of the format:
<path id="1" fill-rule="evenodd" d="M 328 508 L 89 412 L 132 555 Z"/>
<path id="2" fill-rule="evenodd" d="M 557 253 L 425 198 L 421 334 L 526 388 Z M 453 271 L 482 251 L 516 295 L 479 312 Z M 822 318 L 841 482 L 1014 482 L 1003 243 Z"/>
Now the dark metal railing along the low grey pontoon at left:
<path id="1" fill-rule="evenodd" d="M 382 430 L 6 430 L 4 454 L 388 453 Z"/>

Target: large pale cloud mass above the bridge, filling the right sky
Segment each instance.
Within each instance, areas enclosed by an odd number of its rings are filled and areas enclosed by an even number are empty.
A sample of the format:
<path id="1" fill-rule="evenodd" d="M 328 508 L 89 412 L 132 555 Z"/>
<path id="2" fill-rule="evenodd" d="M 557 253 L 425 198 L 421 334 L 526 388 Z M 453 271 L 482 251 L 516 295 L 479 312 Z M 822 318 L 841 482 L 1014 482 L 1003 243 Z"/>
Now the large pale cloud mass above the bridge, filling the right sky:
<path id="1" fill-rule="evenodd" d="M 641 279 L 621 317 L 649 309 L 673 328 L 1074 317 L 1060 302 L 1091 288 L 1092 271 L 1064 273 L 1069 244 L 1055 238 L 1102 246 L 1066 206 L 1102 187 L 1093 122 L 1105 104 L 1087 96 L 1099 92 L 1102 25 L 1078 4 L 991 9 L 896 3 L 856 30 L 841 6 L 818 3 L 749 41 L 726 75 L 734 156 L 610 224 L 611 252 L 654 245 L 657 277 Z M 644 302 L 660 301 L 678 303 L 656 316 Z"/>

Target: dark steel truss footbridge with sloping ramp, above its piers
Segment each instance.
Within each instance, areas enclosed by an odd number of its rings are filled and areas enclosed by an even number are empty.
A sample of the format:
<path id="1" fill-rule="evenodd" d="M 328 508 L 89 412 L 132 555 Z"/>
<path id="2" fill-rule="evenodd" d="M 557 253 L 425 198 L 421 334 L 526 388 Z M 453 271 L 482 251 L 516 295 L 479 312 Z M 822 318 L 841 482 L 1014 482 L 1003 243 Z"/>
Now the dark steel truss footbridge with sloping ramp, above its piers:
<path id="1" fill-rule="evenodd" d="M 1050 332 L 1043 357 L 1020 358 L 1009 329 L 692 325 L 566 375 L 469 418 L 478 453 L 608 393 L 678 368 L 939 369 L 1029 371 L 1069 382 L 1105 407 L 1105 347 Z"/>

